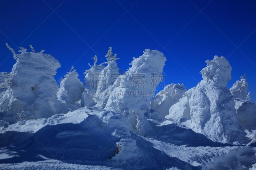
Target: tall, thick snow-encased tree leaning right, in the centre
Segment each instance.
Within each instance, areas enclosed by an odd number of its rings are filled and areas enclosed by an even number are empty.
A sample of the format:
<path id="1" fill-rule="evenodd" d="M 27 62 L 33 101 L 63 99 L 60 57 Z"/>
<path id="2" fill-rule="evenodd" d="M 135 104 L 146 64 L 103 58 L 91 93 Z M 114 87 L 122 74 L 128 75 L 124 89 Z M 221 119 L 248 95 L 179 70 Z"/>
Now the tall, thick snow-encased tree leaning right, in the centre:
<path id="1" fill-rule="evenodd" d="M 154 83 L 162 80 L 165 61 L 163 53 L 146 49 L 143 55 L 133 58 L 132 67 L 110 89 L 104 110 L 125 114 L 136 134 L 145 136 L 146 130 L 151 129 L 144 113 L 150 112 L 150 100 L 157 86 Z"/>

